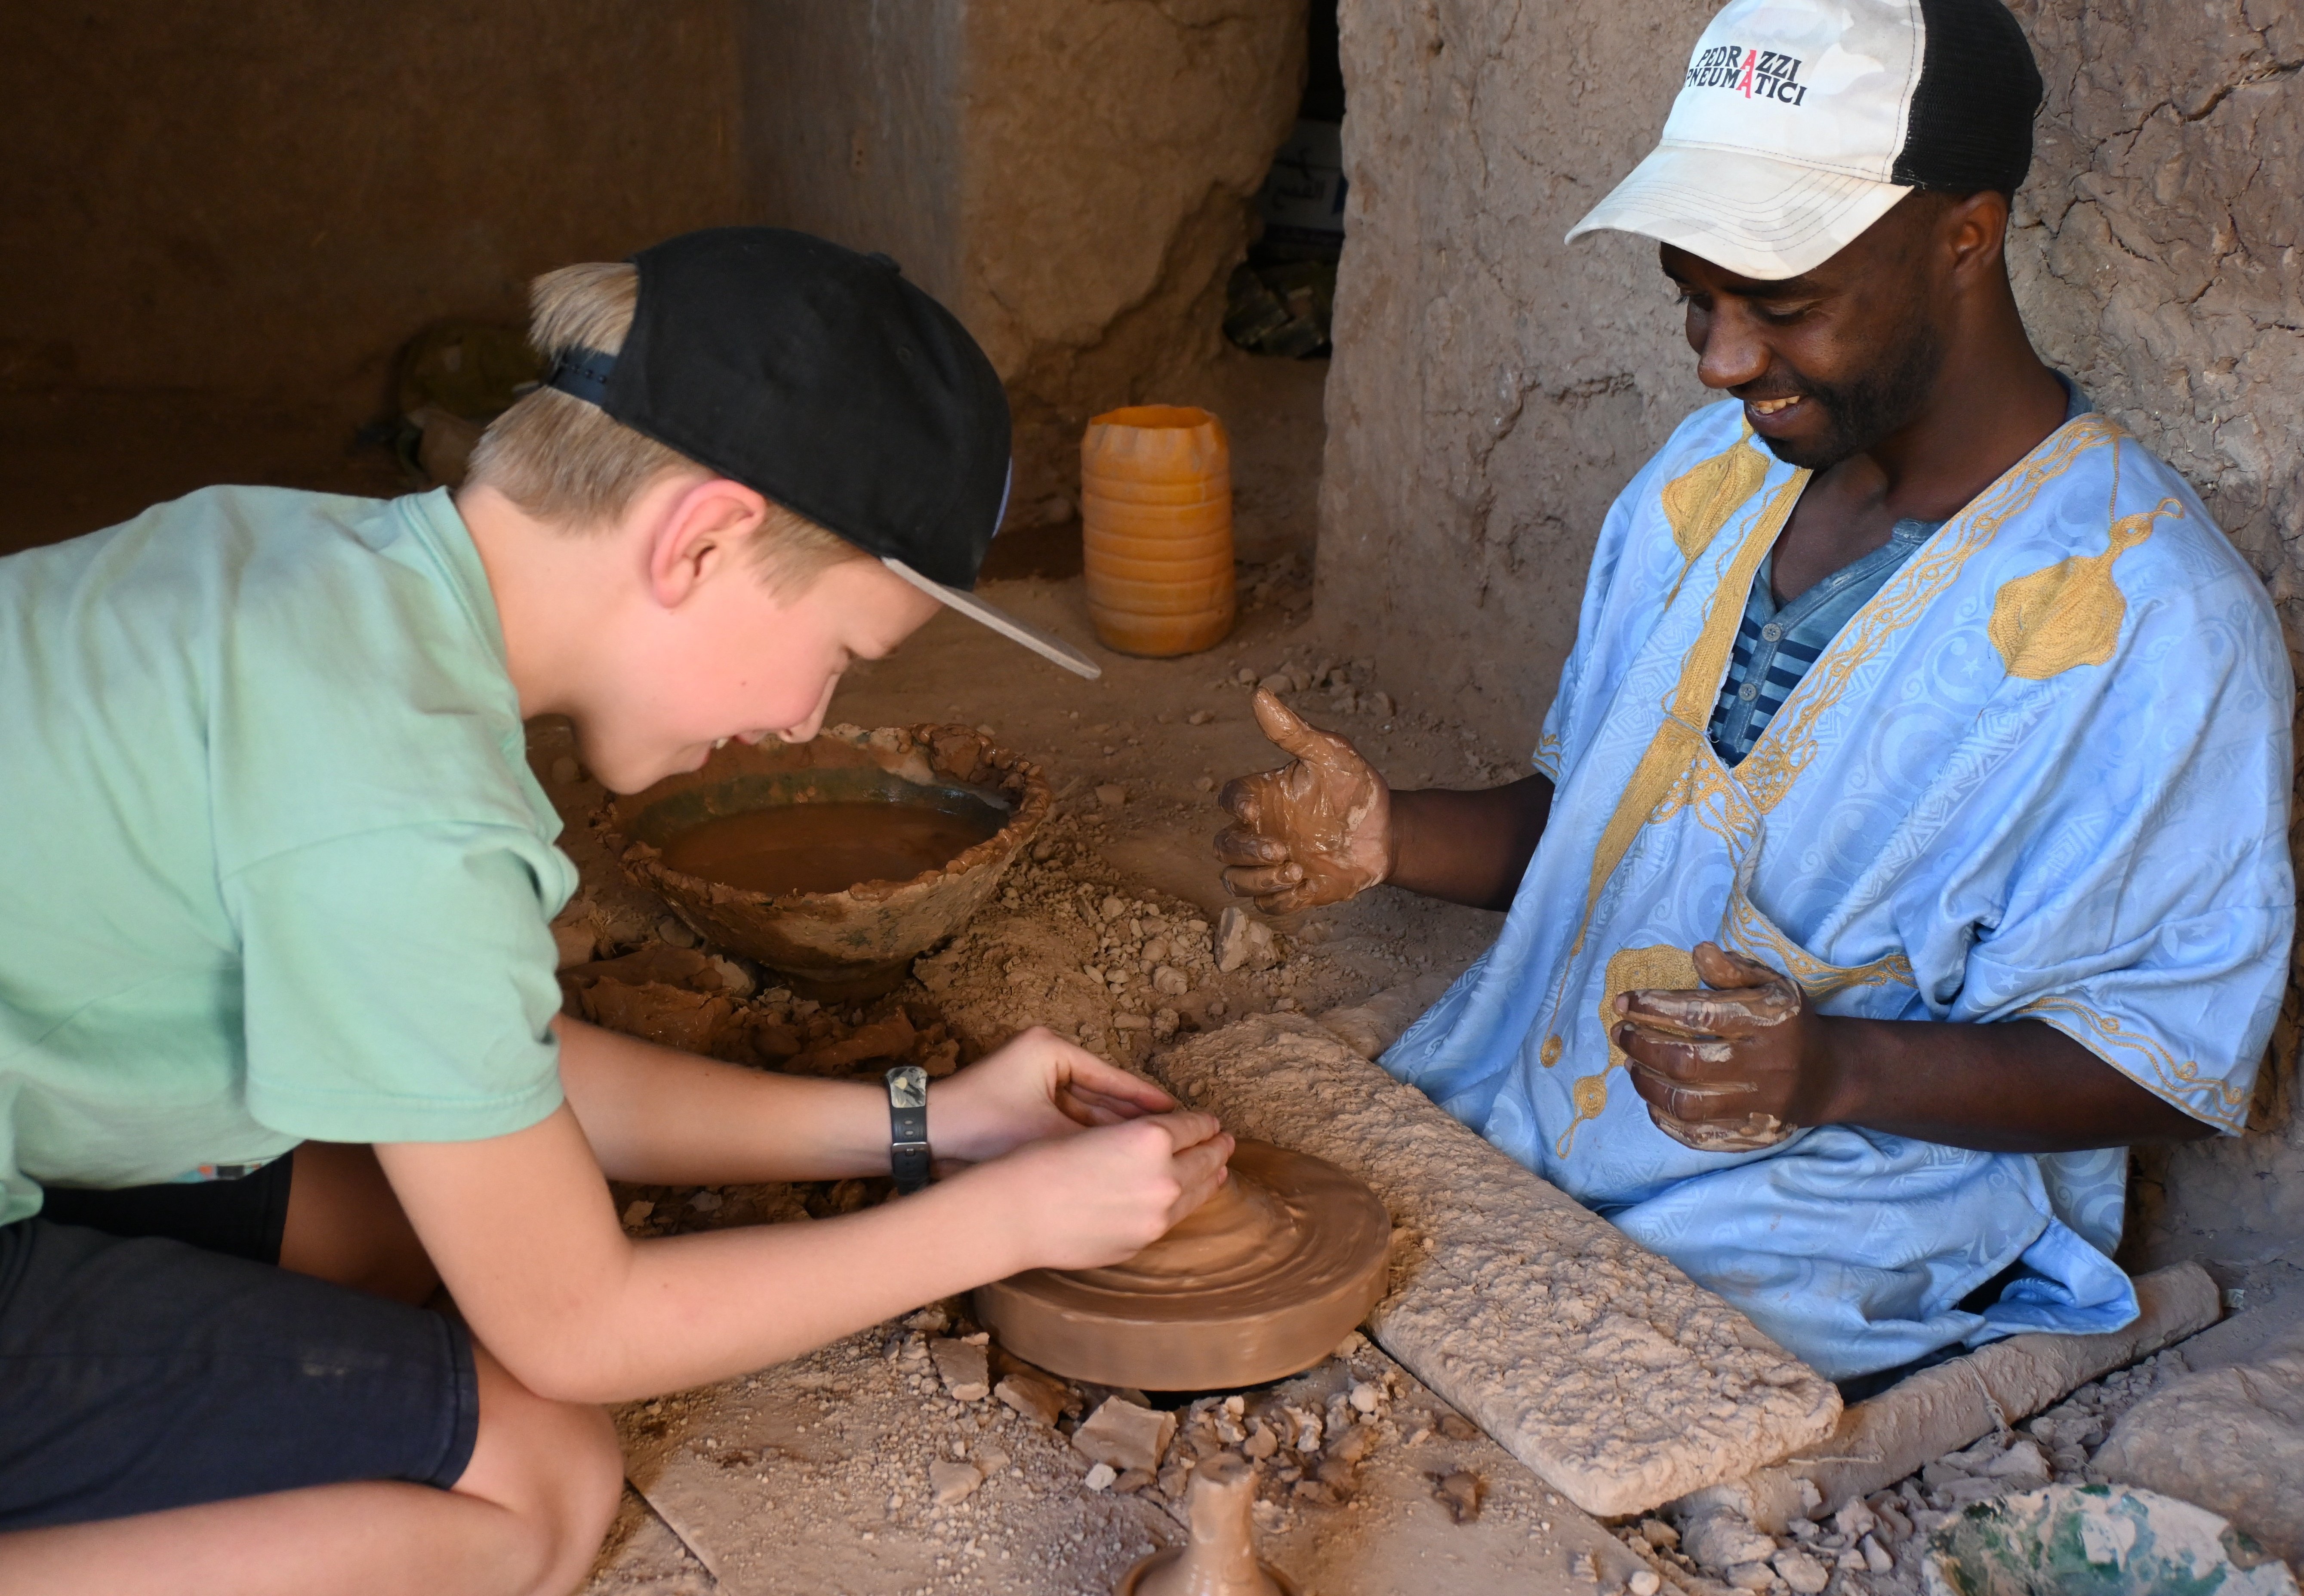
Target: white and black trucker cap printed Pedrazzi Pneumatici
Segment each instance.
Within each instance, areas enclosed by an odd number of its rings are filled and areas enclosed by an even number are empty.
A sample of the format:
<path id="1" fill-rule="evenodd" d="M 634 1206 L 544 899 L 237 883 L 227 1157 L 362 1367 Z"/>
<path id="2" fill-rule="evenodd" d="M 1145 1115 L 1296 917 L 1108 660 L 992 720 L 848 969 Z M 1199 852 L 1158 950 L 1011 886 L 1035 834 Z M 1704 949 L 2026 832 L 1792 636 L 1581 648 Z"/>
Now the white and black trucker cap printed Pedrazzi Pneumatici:
<path id="1" fill-rule="evenodd" d="M 2000 0 L 1730 0 L 1663 138 L 1569 230 L 1799 276 L 1912 189 L 2014 193 L 2041 81 Z"/>

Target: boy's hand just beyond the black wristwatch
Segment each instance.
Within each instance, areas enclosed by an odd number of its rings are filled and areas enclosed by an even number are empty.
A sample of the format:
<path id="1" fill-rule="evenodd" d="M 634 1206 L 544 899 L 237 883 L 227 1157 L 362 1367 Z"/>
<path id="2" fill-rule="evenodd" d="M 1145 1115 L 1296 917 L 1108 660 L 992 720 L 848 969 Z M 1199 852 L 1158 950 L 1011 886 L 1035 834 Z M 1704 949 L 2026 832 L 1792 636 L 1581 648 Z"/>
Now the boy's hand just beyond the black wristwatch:
<path id="1" fill-rule="evenodd" d="M 1170 1108 L 1175 1099 L 1150 1080 L 1034 1025 L 929 1089 L 929 1142 L 940 1158 L 984 1163 L 1025 1142 Z"/>

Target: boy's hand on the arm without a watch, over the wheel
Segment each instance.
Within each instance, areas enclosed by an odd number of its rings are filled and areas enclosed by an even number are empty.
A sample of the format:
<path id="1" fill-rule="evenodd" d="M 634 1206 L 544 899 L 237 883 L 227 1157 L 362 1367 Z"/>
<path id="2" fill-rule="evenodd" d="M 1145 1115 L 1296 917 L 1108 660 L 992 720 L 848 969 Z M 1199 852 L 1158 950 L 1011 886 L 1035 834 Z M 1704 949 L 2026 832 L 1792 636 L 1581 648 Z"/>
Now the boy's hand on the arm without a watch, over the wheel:
<path id="1" fill-rule="evenodd" d="M 1032 1142 L 945 1181 L 991 1188 L 1014 1237 L 1014 1269 L 1099 1269 L 1134 1257 L 1228 1179 L 1233 1138 L 1180 1110 Z"/>

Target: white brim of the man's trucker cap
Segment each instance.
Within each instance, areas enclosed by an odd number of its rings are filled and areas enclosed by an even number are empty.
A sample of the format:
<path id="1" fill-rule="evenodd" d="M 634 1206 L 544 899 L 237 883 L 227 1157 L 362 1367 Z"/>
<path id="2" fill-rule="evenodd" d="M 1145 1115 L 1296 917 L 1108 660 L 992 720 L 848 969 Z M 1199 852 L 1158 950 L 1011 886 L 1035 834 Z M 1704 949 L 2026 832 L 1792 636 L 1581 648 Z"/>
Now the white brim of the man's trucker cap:
<path id="1" fill-rule="evenodd" d="M 1910 189 L 1749 150 L 1657 145 L 1569 228 L 1643 233 L 1737 276 L 1799 276 L 1841 253 Z"/>

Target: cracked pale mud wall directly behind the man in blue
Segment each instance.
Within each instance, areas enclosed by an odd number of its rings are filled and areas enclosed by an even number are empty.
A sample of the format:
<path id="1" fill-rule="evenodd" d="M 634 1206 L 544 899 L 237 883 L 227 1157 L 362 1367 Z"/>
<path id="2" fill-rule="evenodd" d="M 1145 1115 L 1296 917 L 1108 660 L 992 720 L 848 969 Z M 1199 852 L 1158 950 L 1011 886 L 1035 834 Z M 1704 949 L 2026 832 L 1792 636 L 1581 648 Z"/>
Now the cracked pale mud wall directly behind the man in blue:
<path id="1" fill-rule="evenodd" d="M 1350 246 L 1318 622 L 1534 742 L 1608 500 L 1705 398 L 1654 246 L 1562 233 L 1654 143 L 1670 0 L 1343 0 Z M 2304 649 L 2304 2 L 2018 0 L 2048 104 L 2011 267 L 2046 359 L 2175 463 Z M 2290 990 L 2242 1140 L 2147 1154 L 2129 1253 L 2304 1267 Z"/>

